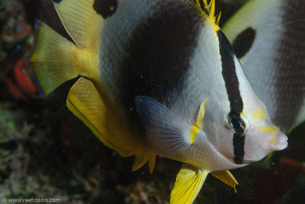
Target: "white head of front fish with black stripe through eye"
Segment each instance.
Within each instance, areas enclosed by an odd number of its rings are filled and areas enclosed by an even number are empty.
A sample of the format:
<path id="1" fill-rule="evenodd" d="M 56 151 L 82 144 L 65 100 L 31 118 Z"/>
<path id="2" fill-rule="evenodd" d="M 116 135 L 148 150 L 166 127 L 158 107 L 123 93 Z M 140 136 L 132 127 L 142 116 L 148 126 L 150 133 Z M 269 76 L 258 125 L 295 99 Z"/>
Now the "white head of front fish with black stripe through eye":
<path id="1" fill-rule="evenodd" d="M 235 66 L 241 108 L 232 105 L 235 98 L 229 101 L 228 92 L 211 93 L 202 127 L 212 145 L 229 161 L 249 164 L 285 149 L 288 138 L 270 121 L 266 106 L 253 92 L 237 59 Z"/>

